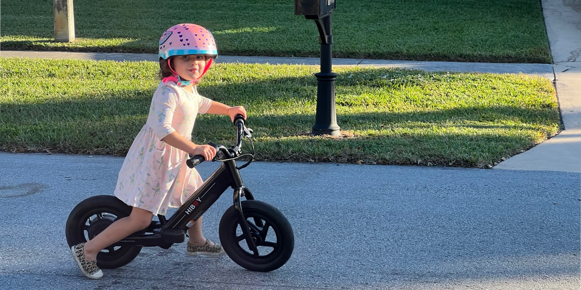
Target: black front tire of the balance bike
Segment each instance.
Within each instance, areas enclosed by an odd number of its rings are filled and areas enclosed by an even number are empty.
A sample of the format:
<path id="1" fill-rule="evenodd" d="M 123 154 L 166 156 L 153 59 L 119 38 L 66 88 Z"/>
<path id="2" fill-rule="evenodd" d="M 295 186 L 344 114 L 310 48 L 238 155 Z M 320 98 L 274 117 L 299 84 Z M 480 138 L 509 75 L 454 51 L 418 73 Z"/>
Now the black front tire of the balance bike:
<path id="1" fill-rule="evenodd" d="M 295 248 L 295 235 L 288 220 L 277 208 L 263 201 L 242 201 L 242 211 L 246 220 L 257 226 L 254 229 L 260 229 L 255 233 L 257 243 L 259 243 L 257 248 L 262 247 L 258 249 L 259 256 L 254 256 L 241 246 L 241 244 L 246 245 L 246 240 L 242 238 L 242 227 L 239 227 L 242 219 L 234 205 L 230 206 L 220 219 L 220 242 L 224 251 L 236 264 L 248 270 L 267 272 L 282 267 L 290 259 Z M 259 223 L 258 220 L 260 224 L 256 224 Z M 265 226 L 266 231 L 264 231 Z M 268 237 L 270 228 L 276 235 L 276 242 L 268 241 L 271 240 L 271 237 Z M 261 237 L 260 233 L 264 233 L 266 238 Z M 264 248 L 272 248 L 272 252 L 260 256 Z"/>

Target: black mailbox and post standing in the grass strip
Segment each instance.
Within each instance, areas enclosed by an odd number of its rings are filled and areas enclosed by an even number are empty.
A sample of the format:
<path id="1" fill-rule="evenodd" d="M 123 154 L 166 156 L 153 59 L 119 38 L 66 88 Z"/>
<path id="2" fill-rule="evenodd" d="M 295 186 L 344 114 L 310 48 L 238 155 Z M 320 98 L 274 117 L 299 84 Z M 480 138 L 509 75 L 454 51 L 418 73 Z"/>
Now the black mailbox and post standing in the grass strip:
<path id="1" fill-rule="evenodd" d="M 314 20 L 319 30 L 321 44 L 321 72 L 317 77 L 317 112 L 313 135 L 340 134 L 335 111 L 335 79 L 332 72 L 331 45 L 331 14 L 335 8 L 335 0 L 295 0 L 295 15 L 304 15 L 306 19 Z"/>

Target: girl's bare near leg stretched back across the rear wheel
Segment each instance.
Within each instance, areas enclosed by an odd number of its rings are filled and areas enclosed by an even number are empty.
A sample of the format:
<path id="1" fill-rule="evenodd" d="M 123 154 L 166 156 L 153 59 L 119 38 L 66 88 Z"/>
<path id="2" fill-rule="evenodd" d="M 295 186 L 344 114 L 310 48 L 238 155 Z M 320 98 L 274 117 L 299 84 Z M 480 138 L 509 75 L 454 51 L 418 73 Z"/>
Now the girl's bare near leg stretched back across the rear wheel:
<path id="1" fill-rule="evenodd" d="M 88 261 L 96 260 L 97 253 L 101 252 L 102 249 L 109 247 L 115 242 L 121 241 L 123 238 L 135 233 L 136 231 L 145 229 L 151 223 L 152 218 L 152 212 L 133 207 L 130 216 L 116 220 L 109 227 L 92 238 L 92 240 L 85 243 L 85 259 Z"/>

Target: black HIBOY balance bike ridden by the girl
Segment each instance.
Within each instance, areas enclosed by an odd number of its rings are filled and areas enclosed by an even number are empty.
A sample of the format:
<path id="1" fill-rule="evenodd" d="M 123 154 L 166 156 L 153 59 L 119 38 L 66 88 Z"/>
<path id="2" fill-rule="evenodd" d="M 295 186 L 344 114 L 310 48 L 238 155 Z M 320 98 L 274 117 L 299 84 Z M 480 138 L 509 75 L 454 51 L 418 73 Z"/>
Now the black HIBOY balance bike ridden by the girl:
<path id="1" fill-rule="evenodd" d="M 243 137 L 252 142 L 252 129 L 246 128 L 242 115 L 236 115 L 236 144 L 230 148 L 216 147 L 212 161 L 222 164 L 198 190 L 170 217 L 157 215 L 145 230 L 131 234 L 97 255 L 97 265 L 114 269 L 131 262 L 142 247 L 168 249 L 185 240 L 185 233 L 228 187 L 234 189 L 234 205 L 220 219 L 219 235 L 224 251 L 240 266 L 253 271 L 272 271 L 284 265 L 295 248 L 295 235 L 288 220 L 272 205 L 254 200 L 242 182 L 239 170 L 252 162 L 253 154 L 242 154 Z M 252 146 L 254 149 L 254 146 Z M 250 155 L 246 164 L 237 167 L 236 158 Z M 204 161 L 202 155 L 187 160 L 190 168 Z M 241 198 L 245 197 L 244 201 Z M 81 201 L 69 215 L 66 238 L 69 247 L 88 241 L 115 220 L 130 215 L 131 206 L 113 195 L 97 195 Z M 272 237 L 274 235 L 274 237 Z"/>

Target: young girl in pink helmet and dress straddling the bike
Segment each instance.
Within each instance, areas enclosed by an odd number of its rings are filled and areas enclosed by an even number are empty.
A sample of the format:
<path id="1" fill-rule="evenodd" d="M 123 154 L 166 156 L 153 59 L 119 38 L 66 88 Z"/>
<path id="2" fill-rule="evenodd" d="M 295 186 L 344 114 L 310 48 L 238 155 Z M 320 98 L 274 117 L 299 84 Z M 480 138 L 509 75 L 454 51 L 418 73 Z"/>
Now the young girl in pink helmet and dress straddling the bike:
<path id="1" fill-rule="evenodd" d="M 210 31 L 195 24 L 178 24 L 159 39 L 160 82 L 153 95 L 145 126 L 125 157 L 114 194 L 132 206 L 131 215 L 117 220 L 92 240 L 71 247 L 85 276 L 103 277 L 96 256 L 128 235 L 149 226 L 153 215 L 166 215 L 202 184 L 198 171 L 185 165 L 188 153 L 211 160 L 216 149 L 192 143 L 197 114 L 246 118 L 243 107 L 229 107 L 200 96 L 196 85 L 218 53 Z M 189 255 L 222 255 L 224 249 L 202 234 L 202 218 L 188 230 Z"/>

